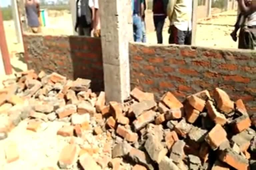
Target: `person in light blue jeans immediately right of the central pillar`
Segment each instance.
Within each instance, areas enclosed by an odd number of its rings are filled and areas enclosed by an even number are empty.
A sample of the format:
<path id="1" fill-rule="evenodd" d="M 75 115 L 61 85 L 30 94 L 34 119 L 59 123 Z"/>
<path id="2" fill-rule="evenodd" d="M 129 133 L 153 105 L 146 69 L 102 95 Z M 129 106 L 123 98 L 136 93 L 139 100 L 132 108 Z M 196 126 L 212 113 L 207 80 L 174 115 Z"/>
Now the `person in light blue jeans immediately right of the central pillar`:
<path id="1" fill-rule="evenodd" d="M 135 42 L 141 42 L 142 23 L 141 16 L 144 11 L 144 0 L 132 0 L 133 11 L 133 38 Z"/>

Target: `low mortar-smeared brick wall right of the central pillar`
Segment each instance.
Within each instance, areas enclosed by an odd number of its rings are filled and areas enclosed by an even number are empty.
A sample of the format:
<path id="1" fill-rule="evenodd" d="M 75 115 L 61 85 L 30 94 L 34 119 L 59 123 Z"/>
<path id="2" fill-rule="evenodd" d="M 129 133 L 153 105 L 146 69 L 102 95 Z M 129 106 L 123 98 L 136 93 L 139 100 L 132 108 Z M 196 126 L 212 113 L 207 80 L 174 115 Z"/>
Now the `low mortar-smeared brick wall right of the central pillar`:
<path id="1" fill-rule="evenodd" d="M 256 111 L 256 53 L 249 50 L 130 43 L 131 88 L 179 99 L 215 87 Z"/>

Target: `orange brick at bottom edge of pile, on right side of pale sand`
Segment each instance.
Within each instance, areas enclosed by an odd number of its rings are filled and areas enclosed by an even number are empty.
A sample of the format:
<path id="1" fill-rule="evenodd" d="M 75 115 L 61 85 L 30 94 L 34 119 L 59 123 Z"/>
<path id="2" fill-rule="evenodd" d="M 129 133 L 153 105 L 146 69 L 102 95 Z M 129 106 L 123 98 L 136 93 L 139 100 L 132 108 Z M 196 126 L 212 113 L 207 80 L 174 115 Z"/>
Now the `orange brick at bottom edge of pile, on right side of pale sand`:
<path id="1" fill-rule="evenodd" d="M 66 145 L 60 152 L 59 164 L 61 168 L 67 167 L 75 163 L 77 157 L 77 146 L 75 144 Z"/>

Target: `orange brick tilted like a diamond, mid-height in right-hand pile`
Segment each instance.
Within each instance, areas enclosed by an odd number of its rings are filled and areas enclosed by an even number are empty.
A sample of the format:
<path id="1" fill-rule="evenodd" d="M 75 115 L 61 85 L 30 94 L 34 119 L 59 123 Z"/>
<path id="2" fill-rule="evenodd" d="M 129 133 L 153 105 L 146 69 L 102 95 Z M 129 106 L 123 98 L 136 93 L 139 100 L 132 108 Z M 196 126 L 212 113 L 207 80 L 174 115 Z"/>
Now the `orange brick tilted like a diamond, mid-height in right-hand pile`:
<path id="1" fill-rule="evenodd" d="M 216 124 L 214 128 L 205 136 L 205 141 L 211 146 L 213 150 L 216 150 L 222 142 L 227 139 L 227 133 L 221 125 Z"/>

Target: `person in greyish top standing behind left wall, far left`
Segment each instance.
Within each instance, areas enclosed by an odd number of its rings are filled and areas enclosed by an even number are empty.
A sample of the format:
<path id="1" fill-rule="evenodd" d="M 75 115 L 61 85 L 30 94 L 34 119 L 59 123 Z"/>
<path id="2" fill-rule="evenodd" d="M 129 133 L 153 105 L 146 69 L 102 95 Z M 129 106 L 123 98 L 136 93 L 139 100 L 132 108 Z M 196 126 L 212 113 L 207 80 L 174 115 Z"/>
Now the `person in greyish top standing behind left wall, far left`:
<path id="1" fill-rule="evenodd" d="M 28 20 L 28 26 L 33 33 L 40 32 L 40 5 L 36 0 L 26 0 L 25 10 Z"/>

